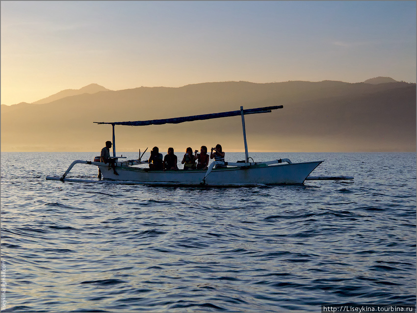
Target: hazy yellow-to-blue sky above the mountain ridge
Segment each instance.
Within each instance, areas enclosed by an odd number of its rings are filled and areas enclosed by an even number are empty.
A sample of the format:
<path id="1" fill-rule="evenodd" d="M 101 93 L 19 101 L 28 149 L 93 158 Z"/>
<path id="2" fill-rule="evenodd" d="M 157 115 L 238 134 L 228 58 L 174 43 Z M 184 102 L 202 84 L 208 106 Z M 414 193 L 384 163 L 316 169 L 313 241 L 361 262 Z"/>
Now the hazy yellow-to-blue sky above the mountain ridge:
<path id="1" fill-rule="evenodd" d="M 416 1 L 1 1 L 1 104 L 90 83 L 416 82 Z"/>

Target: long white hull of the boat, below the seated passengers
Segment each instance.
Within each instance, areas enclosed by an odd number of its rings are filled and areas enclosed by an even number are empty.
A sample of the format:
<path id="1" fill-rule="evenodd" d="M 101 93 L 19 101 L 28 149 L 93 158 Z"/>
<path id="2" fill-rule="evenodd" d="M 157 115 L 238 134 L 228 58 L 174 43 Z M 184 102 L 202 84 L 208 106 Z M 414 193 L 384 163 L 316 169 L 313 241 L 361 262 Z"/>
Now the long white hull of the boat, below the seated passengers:
<path id="1" fill-rule="evenodd" d="M 259 184 L 299 184 L 322 161 L 265 165 L 250 167 L 228 167 L 213 169 L 206 177 L 206 170 L 154 171 L 131 166 L 118 166 L 113 174 L 112 168 L 99 166 L 103 178 L 117 181 L 140 182 L 150 185 L 201 185 L 206 186 L 243 186 Z"/>

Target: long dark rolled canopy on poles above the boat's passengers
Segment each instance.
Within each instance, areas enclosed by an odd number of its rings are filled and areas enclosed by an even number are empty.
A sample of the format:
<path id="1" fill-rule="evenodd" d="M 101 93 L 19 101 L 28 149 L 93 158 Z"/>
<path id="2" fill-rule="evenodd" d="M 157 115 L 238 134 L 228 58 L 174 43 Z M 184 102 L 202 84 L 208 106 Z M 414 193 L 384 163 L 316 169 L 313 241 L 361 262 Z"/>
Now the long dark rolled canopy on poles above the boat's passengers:
<path id="1" fill-rule="evenodd" d="M 283 108 L 283 105 L 258 107 L 258 108 L 243 110 L 243 114 L 270 113 L 271 110 L 276 110 L 276 109 L 280 109 L 280 108 Z M 183 123 L 183 122 L 209 120 L 209 119 L 213 119 L 213 118 L 237 116 L 237 115 L 241 115 L 241 114 L 242 114 L 241 110 L 236 110 L 236 111 L 228 111 L 228 112 L 220 112 L 220 113 L 174 117 L 174 118 L 167 118 L 167 119 L 161 119 L 161 120 L 134 121 L 134 122 L 94 122 L 94 123 L 96 123 L 96 124 L 111 124 L 111 125 L 125 125 L 125 126 L 179 124 L 179 123 Z"/>

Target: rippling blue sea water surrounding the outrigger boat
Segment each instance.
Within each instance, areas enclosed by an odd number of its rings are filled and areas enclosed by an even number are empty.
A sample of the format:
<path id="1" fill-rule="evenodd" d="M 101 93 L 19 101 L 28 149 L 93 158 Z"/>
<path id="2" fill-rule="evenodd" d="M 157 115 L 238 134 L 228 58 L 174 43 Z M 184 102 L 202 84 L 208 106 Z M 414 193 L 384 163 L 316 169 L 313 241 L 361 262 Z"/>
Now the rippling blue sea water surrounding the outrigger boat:
<path id="1" fill-rule="evenodd" d="M 4 312 L 416 305 L 415 153 L 250 154 L 324 160 L 312 175 L 355 177 L 304 185 L 45 180 L 96 155 L 1 153 Z M 243 158 L 226 153 L 227 161 Z M 96 176 L 96 167 L 78 164 L 68 177 Z"/>

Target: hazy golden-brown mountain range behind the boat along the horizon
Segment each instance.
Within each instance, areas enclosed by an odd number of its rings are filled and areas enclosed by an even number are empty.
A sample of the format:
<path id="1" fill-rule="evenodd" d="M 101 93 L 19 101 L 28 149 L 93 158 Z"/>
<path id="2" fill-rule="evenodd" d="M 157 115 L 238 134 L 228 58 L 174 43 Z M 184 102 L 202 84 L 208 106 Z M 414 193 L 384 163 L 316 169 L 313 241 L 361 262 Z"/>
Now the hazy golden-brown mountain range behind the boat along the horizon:
<path id="1" fill-rule="evenodd" d="M 163 119 L 284 105 L 248 115 L 249 151 L 415 152 L 416 84 L 392 78 L 208 82 L 112 91 L 97 84 L 63 90 L 32 104 L 1 105 L 1 151 L 96 151 L 111 127 L 93 122 Z M 116 126 L 118 151 L 190 146 L 243 151 L 240 117 L 146 127 Z"/>

